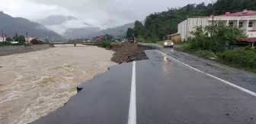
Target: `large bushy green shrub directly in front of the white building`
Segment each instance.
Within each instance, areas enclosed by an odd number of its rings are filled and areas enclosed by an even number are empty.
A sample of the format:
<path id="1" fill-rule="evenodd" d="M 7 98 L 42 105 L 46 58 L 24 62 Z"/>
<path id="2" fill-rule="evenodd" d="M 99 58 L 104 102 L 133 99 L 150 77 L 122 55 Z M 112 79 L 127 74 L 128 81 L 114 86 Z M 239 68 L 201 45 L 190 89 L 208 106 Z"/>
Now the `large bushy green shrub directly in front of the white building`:
<path id="1" fill-rule="evenodd" d="M 224 51 L 226 41 L 234 44 L 240 37 L 245 36 L 242 29 L 237 27 L 225 26 L 218 23 L 214 26 L 197 26 L 192 32 L 193 37 L 187 39 L 191 48 L 206 51 Z"/>

